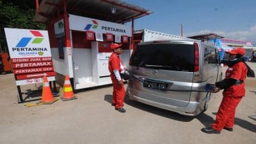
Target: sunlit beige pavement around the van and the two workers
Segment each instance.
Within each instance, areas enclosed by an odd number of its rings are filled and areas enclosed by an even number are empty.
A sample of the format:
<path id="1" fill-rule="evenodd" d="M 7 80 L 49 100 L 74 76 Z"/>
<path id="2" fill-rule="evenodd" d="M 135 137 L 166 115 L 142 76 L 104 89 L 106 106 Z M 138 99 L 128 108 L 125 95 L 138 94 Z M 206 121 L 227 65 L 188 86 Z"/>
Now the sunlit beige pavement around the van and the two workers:
<path id="1" fill-rule="evenodd" d="M 256 70 L 256 63 L 248 64 Z M 209 109 L 196 117 L 128 99 L 127 112 L 122 114 L 111 106 L 111 86 L 75 93 L 76 100 L 26 107 L 38 100 L 17 103 L 12 73 L 0 75 L 0 82 L 0 143 L 256 143 L 256 78 L 246 80 L 246 97 L 237 107 L 234 132 L 223 129 L 221 134 L 200 131 L 213 123 L 221 93 L 214 93 Z M 22 91 L 37 87 L 27 85 Z"/>

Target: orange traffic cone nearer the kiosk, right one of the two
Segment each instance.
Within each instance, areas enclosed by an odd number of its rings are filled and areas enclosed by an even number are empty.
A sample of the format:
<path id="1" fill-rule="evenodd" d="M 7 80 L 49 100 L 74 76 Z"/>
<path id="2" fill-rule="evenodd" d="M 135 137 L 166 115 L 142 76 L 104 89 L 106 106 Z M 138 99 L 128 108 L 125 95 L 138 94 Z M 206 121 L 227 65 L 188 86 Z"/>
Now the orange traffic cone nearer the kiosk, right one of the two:
<path id="1" fill-rule="evenodd" d="M 70 84 L 70 77 L 68 75 L 65 76 L 65 82 L 63 86 L 63 96 L 61 97 L 61 100 L 74 100 L 77 99 L 76 96 L 74 96 L 73 89 Z"/>

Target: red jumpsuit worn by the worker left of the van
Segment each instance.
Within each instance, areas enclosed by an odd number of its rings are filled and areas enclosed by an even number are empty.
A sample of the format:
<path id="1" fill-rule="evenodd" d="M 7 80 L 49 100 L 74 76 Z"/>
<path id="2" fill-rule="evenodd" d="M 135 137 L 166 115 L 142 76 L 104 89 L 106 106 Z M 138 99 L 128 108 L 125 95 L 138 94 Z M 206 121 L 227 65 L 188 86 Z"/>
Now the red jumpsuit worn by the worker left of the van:
<path id="1" fill-rule="evenodd" d="M 113 98 L 112 103 L 115 105 L 115 108 L 119 109 L 124 105 L 125 99 L 125 86 L 118 84 L 118 80 L 115 78 L 113 70 L 117 69 L 119 73 L 124 71 L 124 67 L 120 57 L 116 53 L 112 53 L 109 57 L 109 72 L 111 73 L 111 80 L 113 83 Z"/>

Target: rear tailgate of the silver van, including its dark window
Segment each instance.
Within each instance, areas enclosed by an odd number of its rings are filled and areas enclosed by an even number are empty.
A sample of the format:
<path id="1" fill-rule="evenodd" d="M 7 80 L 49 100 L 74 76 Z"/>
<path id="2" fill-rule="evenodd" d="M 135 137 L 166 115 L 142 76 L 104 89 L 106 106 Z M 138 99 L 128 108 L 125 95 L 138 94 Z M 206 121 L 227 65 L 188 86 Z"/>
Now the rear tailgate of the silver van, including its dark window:
<path id="1" fill-rule="evenodd" d="M 137 78 L 129 80 L 131 94 L 166 105 L 185 107 L 191 97 L 194 51 L 193 42 L 138 45 L 129 66 L 129 72 Z M 167 84 L 164 86 L 166 91 L 159 90 L 163 84 Z"/>

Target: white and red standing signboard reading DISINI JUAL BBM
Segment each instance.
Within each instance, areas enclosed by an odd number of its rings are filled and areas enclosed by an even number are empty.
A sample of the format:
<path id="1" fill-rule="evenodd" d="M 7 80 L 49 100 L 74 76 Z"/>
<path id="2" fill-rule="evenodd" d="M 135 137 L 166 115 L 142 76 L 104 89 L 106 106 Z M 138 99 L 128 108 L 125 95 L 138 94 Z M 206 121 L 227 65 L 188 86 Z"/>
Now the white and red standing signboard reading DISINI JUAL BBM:
<path id="1" fill-rule="evenodd" d="M 49 37 L 46 30 L 4 28 L 17 85 L 55 80 Z"/>

